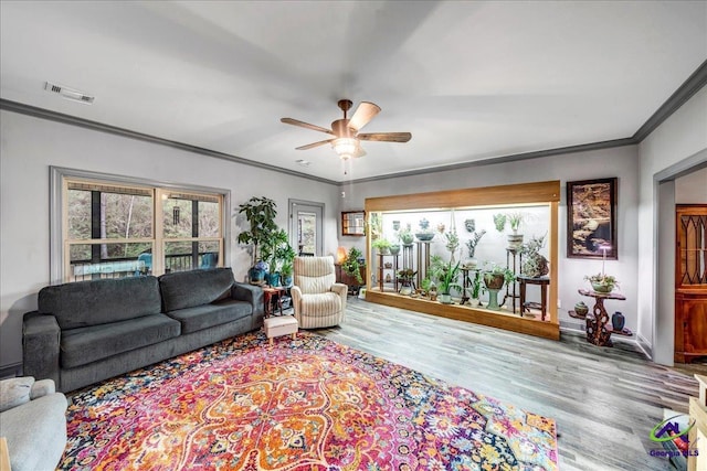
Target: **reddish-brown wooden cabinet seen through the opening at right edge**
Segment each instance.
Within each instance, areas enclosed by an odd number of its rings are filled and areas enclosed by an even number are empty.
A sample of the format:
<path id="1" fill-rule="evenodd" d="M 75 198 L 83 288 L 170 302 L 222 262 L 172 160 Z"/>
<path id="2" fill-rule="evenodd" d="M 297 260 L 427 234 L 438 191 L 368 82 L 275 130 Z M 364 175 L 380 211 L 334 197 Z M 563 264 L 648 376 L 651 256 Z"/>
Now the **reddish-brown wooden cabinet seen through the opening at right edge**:
<path id="1" fill-rule="evenodd" d="M 676 206 L 675 361 L 707 356 L 707 205 Z"/>

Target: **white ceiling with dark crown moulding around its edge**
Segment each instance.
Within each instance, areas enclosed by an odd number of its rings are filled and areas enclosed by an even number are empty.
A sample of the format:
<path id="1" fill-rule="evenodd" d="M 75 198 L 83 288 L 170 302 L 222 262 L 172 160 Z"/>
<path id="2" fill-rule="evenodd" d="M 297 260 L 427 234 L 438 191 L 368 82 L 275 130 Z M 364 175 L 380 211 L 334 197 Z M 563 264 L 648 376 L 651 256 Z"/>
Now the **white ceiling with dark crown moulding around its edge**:
<path id="1" fill-rule="evenodd" d="M 331 181 L 629 138 L 707 60 L 705 1 L 2 0 L 0 21 L 3 99 Z M 328 128 L 340 98 L 412 139 L 347 175 L 295 150 L 327 135 L 279 118 Z"/>

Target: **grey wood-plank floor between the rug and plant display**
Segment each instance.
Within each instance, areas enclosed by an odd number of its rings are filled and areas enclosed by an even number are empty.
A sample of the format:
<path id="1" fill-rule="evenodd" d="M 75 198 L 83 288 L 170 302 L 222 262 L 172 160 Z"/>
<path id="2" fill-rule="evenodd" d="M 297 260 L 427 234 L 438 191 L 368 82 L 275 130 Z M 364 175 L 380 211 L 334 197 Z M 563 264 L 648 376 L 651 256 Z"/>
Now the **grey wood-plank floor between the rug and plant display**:
<path id="1" fill-rule="evenodd" d="M 687 413 L 692 374 L 630 342 L 598 347 L 562 332 L 559 342 L 389 308 L 349 297 L 346 322 L 315 332 L 557 421 L 561 470 L 668 470 L 648 439 L 663 408 Z"/>

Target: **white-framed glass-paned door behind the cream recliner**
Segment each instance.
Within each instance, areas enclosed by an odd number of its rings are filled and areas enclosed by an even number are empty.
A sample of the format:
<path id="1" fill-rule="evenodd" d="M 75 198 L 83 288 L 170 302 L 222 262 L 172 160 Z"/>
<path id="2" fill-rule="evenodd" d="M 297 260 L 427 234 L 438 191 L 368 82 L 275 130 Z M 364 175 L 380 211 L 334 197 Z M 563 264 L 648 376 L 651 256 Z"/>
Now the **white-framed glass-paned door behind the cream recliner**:
<path id="1" fill-rule="evenodd" d="M 289 200 L 289 244 L 300 256 L 324 253 L 324 203 Z"/>

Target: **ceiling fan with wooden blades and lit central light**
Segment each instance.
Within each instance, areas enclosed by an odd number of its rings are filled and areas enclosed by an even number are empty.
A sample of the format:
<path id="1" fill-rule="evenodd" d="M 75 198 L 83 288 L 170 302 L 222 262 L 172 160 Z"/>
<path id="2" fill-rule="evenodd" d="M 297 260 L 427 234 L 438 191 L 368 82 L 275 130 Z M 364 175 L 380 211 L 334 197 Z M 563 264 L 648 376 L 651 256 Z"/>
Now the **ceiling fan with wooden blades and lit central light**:
<path id="1" fill-rule="evenodd" d="M 351 109 L 351 100 L 340 99 L 339 108 L 344 111 L 344 119 L 337 119 L 331 122 L 331 129 L 323 128 L 317 125 L 300 121 L 293 118 L 282 118 L 281 121 L 287 125 L 299 126 L 315 131 L 326 132 L 334 136 L 318 142 L 299 146 L 297 150 L 313 149 L 325 143 L 330 143 L 331 148 L 342 159 L 347 160 L 351 157 L 363 157 L 366 151 L 361 149 L 360 141 L 379 141 L 379 142 L 408 142 L 412 135 L 410 132 L 370 132 L 359 133 L 361 128 L 370 122 L 371 119 L 380 113 L 380 107 L 370 101 L 361 101 L 356 108 L 354 116 L 349 119 L 347 113 Z"/>

